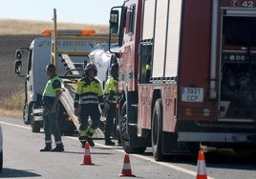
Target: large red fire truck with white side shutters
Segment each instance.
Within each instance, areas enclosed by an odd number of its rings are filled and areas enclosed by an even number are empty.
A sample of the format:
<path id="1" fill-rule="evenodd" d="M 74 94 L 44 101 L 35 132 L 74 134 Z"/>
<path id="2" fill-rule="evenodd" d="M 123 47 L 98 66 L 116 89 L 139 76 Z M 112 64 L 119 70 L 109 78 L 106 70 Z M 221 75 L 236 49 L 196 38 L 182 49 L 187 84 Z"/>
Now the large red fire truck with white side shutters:
<path id="1" fill-rule="evenodd" d="M 115 35 L 126 152 L 255 147 L 256 0 L 126 0 Z"/>

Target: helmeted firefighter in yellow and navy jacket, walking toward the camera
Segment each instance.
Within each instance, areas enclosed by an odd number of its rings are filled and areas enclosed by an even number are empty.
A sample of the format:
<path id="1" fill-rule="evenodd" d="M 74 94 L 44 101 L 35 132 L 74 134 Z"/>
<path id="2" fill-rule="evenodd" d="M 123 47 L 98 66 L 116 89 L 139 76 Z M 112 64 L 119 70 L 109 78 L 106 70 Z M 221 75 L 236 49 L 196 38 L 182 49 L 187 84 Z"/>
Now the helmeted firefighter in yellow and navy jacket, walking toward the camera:
<path id="1" fill-rule="evenodd" d="M 79 141 L 82 146 L 88 141 L 91 147 L 95 146 L 92 139 L 98 122 L 100 120 L 100 111 L 104 115 L 105 106 L 103 100 L 103 90 L 100 82 L 96 79 L 97 69 L 92 63 L 87 64 L 84 69 L 85 77 L 78 81 L 77 88 L 75 90 L 75 115 L 79 115 L 80 127 L 78 130 Z M 90 124 L 88 119 L 91 118 Z"/>

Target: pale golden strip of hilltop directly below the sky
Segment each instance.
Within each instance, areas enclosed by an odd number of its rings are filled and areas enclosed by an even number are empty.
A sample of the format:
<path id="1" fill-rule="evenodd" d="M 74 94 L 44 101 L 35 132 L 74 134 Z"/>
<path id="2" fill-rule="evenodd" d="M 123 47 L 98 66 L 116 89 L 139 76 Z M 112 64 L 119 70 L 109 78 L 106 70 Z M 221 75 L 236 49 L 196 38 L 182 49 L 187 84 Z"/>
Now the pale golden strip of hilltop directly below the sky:
<path id="1" fill-rule="evenodd" d="M 41 34 L 42 30 L 52 29 L 51 21 L 17 20 L 0 18 L 0 35 L 20 35 L 20 34 Z M 108 33 L 107 25 L 90 25 L 75 23 L 57 23 L 57 29 L 94 29 L 96 33 Z"/>

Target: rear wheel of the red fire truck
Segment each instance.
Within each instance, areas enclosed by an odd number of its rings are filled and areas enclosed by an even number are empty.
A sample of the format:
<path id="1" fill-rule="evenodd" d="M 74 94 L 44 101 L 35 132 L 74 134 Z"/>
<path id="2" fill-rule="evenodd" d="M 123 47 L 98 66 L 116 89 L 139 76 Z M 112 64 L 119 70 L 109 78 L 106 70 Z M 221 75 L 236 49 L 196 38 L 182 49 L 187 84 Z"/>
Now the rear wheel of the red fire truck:
<path id="1" fill-rule="evenodd" d="M 161 137 L 162 137 L 162 104 L 158 99 L 155 103 L 153 110 L 152 128 L 151 128 L 151 141 L 153 156 L 156 161 L 160 161 L 163 157 L 161 152 Z"/>

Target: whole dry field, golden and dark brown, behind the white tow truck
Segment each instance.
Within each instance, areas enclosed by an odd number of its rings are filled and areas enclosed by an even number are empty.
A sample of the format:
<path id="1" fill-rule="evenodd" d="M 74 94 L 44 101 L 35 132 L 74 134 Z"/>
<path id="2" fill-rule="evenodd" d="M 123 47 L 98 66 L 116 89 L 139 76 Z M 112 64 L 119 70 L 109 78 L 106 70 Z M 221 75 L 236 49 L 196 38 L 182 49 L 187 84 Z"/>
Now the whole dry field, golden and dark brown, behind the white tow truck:
<path id="1" fill-rule="evenodd" d="M 0 115 L 22 115 L 24 79 L 14 73 L 14 53 L 29 47 L 46 29 L 52 29 L 52 22 L 0 19 Z M 58 29 L 95 29 L 97 34 L 106 34 L 108 26 L 59 23 Z"/>

